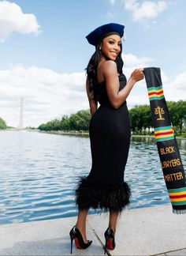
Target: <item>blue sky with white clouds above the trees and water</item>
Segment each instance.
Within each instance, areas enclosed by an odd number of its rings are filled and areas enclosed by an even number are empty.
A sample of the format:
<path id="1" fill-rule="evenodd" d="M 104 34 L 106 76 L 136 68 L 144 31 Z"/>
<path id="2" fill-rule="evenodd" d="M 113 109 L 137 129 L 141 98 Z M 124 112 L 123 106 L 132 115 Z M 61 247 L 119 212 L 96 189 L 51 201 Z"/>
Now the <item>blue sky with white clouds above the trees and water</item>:
<path id="1" fill-rule="evenodd" d="M 37 127 L 88 109 L 84 69 L 95 47 L 85 36 L 102 24 L 125 25 L 123 72 L 159 67 L 166 100 L 186 100 L 185 0 L 0 0 L 0 117 Z M 145 80 L 128 108 L 149 104 Z"/>

